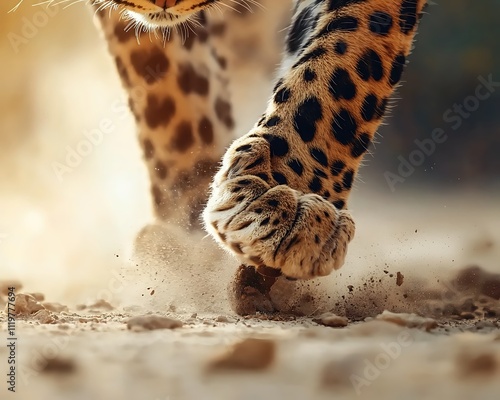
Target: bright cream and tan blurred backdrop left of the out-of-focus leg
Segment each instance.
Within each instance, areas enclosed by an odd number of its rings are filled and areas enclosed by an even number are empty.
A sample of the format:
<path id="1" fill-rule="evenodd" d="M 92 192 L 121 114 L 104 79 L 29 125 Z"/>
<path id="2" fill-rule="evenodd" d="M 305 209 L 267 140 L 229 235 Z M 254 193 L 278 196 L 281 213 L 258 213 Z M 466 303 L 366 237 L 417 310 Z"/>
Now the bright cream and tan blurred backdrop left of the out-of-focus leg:
<path id="1" fill-rule="evenodd" d="M 90 9 L 16 3 L 0 3 L 0 279 L 83 300 L 149 222 L 147 173 Z"/>

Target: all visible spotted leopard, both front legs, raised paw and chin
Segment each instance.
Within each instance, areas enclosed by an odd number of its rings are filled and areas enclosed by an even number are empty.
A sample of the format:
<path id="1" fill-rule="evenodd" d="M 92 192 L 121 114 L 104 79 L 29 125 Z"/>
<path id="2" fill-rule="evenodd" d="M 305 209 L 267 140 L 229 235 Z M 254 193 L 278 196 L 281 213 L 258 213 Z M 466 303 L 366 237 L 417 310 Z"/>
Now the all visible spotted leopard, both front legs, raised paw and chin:
<path id="1" fill-rule="evenodd" d="M 243 263 L 300 279 L 340 268 L 354 236 L 348 197 L 425 0 L 262 0 L 255 13 L 248 0 L 114 0 L 132 22 L 94 3 L 139 126 L 158 216 L 195 227 L 212 182 L 205 227 Z M 208 12 L 224 5 L 236 10 Z M 187 37 L 170 31 L 189 18 Z M 253 88 L 249 81 L 235 97 L 238 77 L 269 76 L 280 23 L 289 29 L 274 89 L 245 127 Z"/>

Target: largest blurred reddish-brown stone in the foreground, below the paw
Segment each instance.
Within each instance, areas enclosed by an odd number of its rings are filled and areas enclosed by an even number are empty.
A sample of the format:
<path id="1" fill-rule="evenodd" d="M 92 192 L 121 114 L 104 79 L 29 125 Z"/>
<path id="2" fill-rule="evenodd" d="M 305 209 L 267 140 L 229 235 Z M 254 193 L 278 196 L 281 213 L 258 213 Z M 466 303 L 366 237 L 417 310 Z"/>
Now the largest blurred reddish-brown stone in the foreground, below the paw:
<path id="1" fill-rule="evenodd" d="M 234 344 L 209 363 L 210 369 L 263 370 L 276 355 L 276 343 L 268 339 L 248 338 Z"/>

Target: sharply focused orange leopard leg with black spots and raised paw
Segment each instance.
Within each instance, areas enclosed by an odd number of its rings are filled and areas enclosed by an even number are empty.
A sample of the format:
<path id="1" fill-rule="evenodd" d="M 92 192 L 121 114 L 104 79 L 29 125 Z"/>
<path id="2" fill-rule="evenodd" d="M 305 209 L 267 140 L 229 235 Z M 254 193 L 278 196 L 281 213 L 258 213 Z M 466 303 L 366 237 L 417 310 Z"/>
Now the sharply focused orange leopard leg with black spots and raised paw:
<path id="1" fill-rule="evenodd" d="M 242 263 L 328 275 L 354 235 L 345 210 L 425 0 L 296 0 L 281 79 L 223 158 L 207 230 Z"/>

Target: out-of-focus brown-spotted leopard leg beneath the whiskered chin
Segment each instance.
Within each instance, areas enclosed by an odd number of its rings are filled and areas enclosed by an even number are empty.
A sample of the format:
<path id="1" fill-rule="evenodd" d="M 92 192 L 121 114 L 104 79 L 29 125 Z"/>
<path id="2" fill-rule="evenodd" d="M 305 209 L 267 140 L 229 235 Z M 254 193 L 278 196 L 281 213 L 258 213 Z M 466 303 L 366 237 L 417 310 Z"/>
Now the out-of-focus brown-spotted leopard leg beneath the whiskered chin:
<path id="1" fill-rule="evenodd" d="M 164 42 L 142 32 L 137 39 L 117 12 L 98 15 L 137 123 L 155 214 L 197 228 L 206 201 L 200 188 L 208 187 L 234 128 L 227 85 L 209 80 L 224 71 L 210 47 L 199 45 L 202 36 Z"/>

